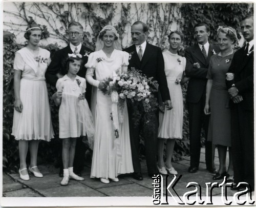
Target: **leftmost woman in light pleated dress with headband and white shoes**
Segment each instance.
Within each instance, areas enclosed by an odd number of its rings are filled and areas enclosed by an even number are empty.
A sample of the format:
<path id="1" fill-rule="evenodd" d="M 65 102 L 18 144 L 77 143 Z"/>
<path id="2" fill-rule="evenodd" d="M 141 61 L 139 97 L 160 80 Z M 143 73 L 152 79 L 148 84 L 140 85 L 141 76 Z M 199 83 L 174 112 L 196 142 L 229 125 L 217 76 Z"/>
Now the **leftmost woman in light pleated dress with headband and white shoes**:
<path id="1" fill-rule="evenodd" d="M 15 54 L 14 59 L 14 116 L 12 135 L 19 141 L 19 176 L 29 180 L 26 156 L 30 151 L 29 171 L 42 177 L 37 168 L 39 140 L 54 138 L 45 72 L 50 64 L 50 52 L 38 47 L 41 29 L 38 25 L 27 28 L 28 45 Z"/>

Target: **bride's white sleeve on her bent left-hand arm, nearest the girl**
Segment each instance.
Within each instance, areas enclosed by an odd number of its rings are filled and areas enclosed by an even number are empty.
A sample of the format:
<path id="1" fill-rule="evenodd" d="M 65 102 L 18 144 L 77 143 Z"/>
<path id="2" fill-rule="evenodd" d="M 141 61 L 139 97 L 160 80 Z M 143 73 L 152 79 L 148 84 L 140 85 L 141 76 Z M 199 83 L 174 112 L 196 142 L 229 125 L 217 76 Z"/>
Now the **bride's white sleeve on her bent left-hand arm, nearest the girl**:
<path id="1" fill-rule="evenodd" d="M 89 84 L 91 84 L 92 86 L 98 88 L 100 81 L 98 81 L 98 80 L 93 78 L 94 71 L 95 71 L 95 68 L 96 68 L 96 58 L 94 56 L 94 53 L 91 53 L 89 55 L 88 62 L 85 65 L 85 67 L 87 68 L 86 80 L 89 82 Z"/>

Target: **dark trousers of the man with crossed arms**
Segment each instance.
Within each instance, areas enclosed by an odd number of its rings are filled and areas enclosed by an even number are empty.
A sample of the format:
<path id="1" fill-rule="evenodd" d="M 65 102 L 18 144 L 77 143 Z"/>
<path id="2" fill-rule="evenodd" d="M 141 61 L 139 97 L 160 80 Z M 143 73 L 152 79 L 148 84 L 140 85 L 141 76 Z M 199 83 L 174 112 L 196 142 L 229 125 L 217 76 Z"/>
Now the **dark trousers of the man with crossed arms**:
<path id="1" fill-rule="evenodd" d="M 190 140 L 190 167 L 199 167 L 201 151 L 201 130 L 205 132 L 205 162 L 206 168 L 214 168 L 215 145 L 207 141 L 209 116 L 204 114 L 205 96 L 199 102 L 187 102 Z"/>

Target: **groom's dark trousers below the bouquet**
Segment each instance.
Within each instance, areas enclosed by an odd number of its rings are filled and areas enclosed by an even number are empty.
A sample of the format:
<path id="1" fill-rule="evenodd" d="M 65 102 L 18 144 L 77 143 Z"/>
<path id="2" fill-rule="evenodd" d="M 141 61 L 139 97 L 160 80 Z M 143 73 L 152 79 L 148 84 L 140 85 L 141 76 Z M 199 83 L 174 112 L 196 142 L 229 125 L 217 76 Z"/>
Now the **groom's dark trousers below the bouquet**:
<path id="1" fill-rule="evenodd" d="M 132 149 L 133 169 L 135 173 L 141 172 L 139 159 L 140 131 L 143 131 L 145 156 L 148 174 L 158 173 L 157 170 L 157 112 L 138 112 L 132 105 L 128 108 L 130 141 Z M 136 122 L 135 122 L 136 121 Z"/>

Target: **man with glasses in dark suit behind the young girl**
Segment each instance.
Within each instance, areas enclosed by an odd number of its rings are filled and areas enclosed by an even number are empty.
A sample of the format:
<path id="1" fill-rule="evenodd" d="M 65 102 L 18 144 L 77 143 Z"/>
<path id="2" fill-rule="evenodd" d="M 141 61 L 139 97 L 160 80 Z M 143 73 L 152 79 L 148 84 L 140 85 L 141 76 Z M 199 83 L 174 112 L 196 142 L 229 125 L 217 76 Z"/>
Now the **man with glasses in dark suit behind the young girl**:
<path id="1" fill-rule="evenodd" d="M 70 44 L 63 49 L 56 51 L 45 75 L 46 81 L 54 87 L 56 86 L 56 82 L 58 78 L 65 75 L 65 60 L 68 58 L 68 54 L 80 53 L 82 55 L 81 69 L 79 70 L 77 75 L 84 78 L 86 76 L 86 70 L 87 70 L 86 67 L 84 67 L 84 65 L 87 63 L 88 56 L 92 52 L 91 49 L 81 44 L 81 39 L 83 37 L 83 27 L 80 23 L 72 22 L 69 24 L 68 29 L 69 29 L 68 34 L 70 37 Z M 88 83 L 87 83 L 87 89 L 86 89 L 86 99 L 90 105 L 91 86 Z M 74 158 L 74 173 L 76 173 L 78 176 L 81 175 L 81 171 L 83 170 L 85 151 L 86 151 L 86 147 L 82 142 L 82 137 L 80 137 L 79 139 L 77 139 L 77 142 L 76 142 L 76 152 L 75 152 L 75 158 Z M 59 170 L 59 176 L 63 177 L 63 165 L 62 165 L 61 155 L 59 159 L 60 159 L 59 162 L 61 164 L 60 170 Z"/>

